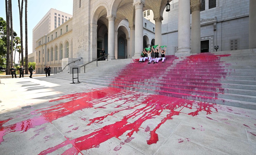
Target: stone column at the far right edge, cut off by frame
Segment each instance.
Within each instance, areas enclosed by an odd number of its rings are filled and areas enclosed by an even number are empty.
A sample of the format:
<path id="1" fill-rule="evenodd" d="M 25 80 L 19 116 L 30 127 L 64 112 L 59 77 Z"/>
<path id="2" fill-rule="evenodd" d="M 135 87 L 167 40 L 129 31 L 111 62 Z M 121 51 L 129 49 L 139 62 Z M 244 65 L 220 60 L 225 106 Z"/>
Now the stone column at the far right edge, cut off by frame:
<path id="1" fill-rule="evenodd" d="M 250 0 L 249 4 L 249 49 L 256 48 L 256 1 Z"/>

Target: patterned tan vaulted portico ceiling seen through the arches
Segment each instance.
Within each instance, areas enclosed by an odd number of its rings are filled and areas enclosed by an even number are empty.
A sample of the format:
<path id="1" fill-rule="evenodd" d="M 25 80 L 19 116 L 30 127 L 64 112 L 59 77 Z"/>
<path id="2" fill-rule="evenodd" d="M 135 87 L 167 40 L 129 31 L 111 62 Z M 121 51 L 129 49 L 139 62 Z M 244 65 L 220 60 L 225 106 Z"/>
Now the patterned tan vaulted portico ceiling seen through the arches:
<path id="1" fill-rule="evenodd" d="M 160 10 L 162 7 L 165 7 L 166 3 L 167 3 L 167 0 L 145 0 L 145 5 L 143 10 L 152 10 L 154 13 L 154 18 L 157 18 L 161 16 L 162 12 L 160 12 Z M 107 17 L 106 9 L 103 9 L 101 11 L 98 19 L 101 17 L 103 18 Z M 133 6 L 133 0 L 121 0 L 121 2 L 117 7 L 116 21 L 127 19 L 129 21 L 129 25 L 133 25 L 133 20 L 134 20 L 133 18 L 135 18 L 135 8 Z"/>

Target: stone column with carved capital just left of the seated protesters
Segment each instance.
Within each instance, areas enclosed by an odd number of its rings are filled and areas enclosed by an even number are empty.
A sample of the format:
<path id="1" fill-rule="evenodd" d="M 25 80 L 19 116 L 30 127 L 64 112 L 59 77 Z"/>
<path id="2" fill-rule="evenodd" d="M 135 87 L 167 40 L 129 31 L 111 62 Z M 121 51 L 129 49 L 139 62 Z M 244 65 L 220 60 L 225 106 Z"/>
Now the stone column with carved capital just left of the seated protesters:
<path id="1" fill-rule="evenodd" d="M 133 59 L 140 58 L 143 50 L 143 7 L 141 1 L 133 3 L 135 7 L 135 53 Z"/>

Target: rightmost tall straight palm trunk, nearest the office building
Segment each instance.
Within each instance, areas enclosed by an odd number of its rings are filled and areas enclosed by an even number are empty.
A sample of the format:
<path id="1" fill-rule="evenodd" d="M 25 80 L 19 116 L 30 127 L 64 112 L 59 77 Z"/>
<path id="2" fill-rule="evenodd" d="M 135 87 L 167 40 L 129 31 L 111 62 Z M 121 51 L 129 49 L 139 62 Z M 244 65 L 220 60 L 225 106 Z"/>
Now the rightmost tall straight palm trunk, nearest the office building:
<path id="1" fill-rule="evenodd" d="M 28 0 L 25 0 L 25 74 L 29 73 L 28 67 L 28 21 L 27 21 L 27 7 L 28 7 Z"/>

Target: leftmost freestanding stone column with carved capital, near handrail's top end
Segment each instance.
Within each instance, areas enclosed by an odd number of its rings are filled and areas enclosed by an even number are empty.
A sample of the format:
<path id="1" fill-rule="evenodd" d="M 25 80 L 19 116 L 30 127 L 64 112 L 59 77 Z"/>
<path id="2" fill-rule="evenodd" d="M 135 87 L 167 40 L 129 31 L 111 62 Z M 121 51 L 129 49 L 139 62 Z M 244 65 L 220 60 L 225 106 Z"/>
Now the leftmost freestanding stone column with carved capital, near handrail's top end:
<path id="1" fill-rule="evenodd" d="M 107 16 L 108 18 L 108 58 L 115 58 L 115 19 L 113 15 Z"/>

